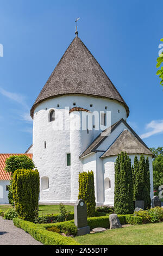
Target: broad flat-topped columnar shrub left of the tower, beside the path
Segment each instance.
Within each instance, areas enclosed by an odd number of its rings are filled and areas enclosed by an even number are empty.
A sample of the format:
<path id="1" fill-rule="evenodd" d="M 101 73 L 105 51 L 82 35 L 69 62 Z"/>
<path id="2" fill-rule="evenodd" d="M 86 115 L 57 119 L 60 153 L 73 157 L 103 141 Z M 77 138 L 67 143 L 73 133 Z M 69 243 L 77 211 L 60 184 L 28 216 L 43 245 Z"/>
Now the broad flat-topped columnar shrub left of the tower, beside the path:
<path id="1" fill-rule="evenodd" d="M 38 170 L 18 169 L 13 174 L 12 192 L 15 209 L 22 220 L 34 221 L 39 202 Z"/>

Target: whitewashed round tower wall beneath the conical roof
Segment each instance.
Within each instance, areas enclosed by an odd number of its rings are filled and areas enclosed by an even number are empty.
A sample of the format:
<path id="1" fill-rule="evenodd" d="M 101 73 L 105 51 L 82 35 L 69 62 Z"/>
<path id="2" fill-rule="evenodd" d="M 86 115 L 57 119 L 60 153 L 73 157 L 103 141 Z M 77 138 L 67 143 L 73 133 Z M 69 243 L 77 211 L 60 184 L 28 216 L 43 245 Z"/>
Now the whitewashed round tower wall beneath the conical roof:
<path id="1" fill-rule="evenodd" d="M 37 105 L 33 122 L 33 160 L 39 169 L 40 178 L 47 176 L 49 179 L 48 190 L 41 190 L 40 182 L 40 203 L 74 202 L 78 198 L 77 177 L 83 169 L 79 155 L 99 135 L 100 131 L 89 131 L 89 135 L 86 131 L 81 133 L 69 131 L 69 109 L 65 110 L 65 107 L 70 109 L 75 107 L 74 102 L 77 107 L 83 107 L 92 112 L 105 111 L 107 107 L 107 111 L 111 111 L 111 124 L 121 118 L 126 119 L 126 109 L 121 103 L 99 97 L 64 95 L 45 100 Z M 51 109 L 54 109 L 56 118 L 49 122 Z M 57 130 L 57 125 L 58 127 L 62 125 L 62 117 L 64 127 Z M 66 153 L 71 153 L 71 166 L 66 166 Z"/>

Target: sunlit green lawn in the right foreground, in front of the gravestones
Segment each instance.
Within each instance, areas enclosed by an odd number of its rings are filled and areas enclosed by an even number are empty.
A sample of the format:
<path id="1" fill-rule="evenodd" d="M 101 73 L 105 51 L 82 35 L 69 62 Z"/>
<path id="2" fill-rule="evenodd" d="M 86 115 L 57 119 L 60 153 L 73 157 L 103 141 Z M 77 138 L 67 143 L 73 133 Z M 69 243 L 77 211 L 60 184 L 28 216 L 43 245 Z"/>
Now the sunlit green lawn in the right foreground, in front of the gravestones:
<path id="1" fill-rule="evenodd" d="M 111 229 L 74 239 L 82 245 L 163 245 L 162 233 L 163 222 Z"/>

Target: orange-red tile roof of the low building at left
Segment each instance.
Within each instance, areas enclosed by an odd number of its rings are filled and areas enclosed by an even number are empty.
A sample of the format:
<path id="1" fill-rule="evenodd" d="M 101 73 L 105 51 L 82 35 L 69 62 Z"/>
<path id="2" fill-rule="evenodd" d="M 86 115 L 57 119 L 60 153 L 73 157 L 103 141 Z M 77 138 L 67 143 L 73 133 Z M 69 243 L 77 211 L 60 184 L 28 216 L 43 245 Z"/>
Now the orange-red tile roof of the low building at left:
<path id="1" fill-rule="evenodd" d="M 26 155 L 30 159 L 32 159 L 33 154 L 0 154 L 0 180 L 10 180 L 11 175 L 6 173 L 4 170 L 5 167 L 5 160 L 7 160 L 10 156 L 17 156 L 17 155 Z"/>

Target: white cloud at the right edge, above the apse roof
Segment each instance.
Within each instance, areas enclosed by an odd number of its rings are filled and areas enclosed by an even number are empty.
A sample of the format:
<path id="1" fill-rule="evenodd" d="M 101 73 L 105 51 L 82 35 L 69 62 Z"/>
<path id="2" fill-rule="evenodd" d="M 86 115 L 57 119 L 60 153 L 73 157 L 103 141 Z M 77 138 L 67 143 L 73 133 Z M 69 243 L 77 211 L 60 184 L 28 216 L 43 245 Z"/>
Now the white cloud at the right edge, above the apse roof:
<path id="1" fill-rule="evenodd" d="M 143 133 L 140 137 L 142 139 L 151 137 L 152 135 L 163 133 L 163 120 L 153 120 L 146 125 L 146 130 L 152 129 L 146 133 Z"/>

